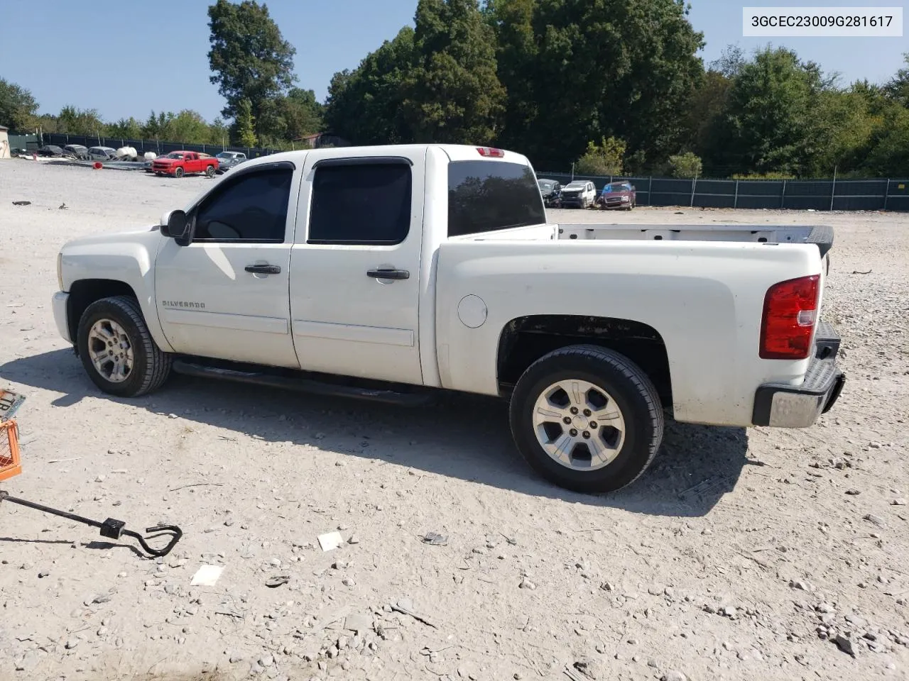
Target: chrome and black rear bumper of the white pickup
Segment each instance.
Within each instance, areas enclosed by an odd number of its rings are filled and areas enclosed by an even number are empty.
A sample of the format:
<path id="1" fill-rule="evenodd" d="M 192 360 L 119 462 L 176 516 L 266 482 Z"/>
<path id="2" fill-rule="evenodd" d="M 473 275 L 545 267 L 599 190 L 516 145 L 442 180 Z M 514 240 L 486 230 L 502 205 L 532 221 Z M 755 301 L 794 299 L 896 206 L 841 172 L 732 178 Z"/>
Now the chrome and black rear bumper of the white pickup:
<path id="1" fill-rule="evenodd" d="M 807 428 L 839 399 L 845 374 L 836 366 L 840 338 L 822 322 L 814 341 L 814 358 L 802 385 L 769 383 L 754 393 L 752 423 L 772 428 Z"/>

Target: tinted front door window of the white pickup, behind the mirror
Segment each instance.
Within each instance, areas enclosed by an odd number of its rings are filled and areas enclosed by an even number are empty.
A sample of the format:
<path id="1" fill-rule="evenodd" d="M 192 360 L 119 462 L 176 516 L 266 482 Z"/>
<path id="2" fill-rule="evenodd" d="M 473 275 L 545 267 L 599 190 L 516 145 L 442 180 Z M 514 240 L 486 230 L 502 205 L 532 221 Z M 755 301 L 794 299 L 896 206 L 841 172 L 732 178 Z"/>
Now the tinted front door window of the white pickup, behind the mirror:
<path id="1" fill-rule="evenodd" d="M 196 242 L 284 242 L 291 169 L 227 181 L 195 216 Z"/>

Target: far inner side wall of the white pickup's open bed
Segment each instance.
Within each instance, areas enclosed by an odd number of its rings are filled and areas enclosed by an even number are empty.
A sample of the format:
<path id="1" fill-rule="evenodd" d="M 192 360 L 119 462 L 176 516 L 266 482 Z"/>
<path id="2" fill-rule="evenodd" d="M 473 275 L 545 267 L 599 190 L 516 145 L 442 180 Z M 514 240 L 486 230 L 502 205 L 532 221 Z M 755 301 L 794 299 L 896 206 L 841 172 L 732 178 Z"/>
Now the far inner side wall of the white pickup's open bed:
<path id="1" fill-rule="evenodd" d="M 562 224 L 559 239 L 651 240 L 681 242 L 814 243 L 823 258 L 834 245 L 834 230 L 827 226 L 748 224 Z"/>

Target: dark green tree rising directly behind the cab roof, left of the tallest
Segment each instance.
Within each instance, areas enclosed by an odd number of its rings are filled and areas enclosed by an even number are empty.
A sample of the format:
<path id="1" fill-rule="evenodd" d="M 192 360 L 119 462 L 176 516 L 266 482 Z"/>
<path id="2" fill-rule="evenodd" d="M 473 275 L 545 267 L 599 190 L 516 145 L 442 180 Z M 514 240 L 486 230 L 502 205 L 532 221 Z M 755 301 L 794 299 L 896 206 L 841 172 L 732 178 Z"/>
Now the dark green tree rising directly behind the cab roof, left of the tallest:
<path id="1" fill-rule="evenodd" d="M 414 29 L 405 26 L 355 70 L 336 73 L 325 101 L 325 130 L 356 144 L 412 142 L 402 104 L 415 62 Z"/>

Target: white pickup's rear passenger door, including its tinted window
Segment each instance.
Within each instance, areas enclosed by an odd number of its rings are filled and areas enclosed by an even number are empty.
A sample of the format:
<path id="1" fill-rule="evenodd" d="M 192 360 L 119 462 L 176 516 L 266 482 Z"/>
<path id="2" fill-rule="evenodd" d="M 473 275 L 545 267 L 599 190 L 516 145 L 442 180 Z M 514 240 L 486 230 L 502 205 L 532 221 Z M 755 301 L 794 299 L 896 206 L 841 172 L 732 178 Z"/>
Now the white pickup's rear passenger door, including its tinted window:
<path id="1" fill-rule="evenodd" d="M 291 252 L 300 366 L 421 384 L 425 150 L 306 162 Z M 307 229 L 303 229 L 307 225 Z"/>

